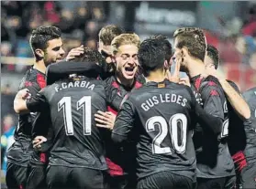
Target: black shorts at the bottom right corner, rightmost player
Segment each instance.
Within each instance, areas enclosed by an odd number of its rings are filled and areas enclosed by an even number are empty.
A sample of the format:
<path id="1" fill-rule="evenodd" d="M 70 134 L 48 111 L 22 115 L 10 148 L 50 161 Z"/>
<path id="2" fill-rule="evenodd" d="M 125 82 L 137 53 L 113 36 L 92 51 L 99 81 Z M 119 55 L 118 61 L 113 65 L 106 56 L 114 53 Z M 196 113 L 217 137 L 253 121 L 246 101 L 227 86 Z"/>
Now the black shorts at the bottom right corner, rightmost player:
<path id="1" fill-rule="evenodd" d="M 256 188 L 256 163 L 249 163 L 241 170 L 240 184 L 243 188 Z"/>

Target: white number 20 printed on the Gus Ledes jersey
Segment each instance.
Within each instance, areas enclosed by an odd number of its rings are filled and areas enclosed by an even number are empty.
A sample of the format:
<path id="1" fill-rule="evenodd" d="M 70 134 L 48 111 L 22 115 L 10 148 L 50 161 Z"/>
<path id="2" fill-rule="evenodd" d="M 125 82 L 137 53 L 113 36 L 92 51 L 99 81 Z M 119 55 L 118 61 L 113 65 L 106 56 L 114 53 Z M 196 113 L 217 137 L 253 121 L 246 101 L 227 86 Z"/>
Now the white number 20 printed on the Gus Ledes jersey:
<path id="1" fill-rule="evenodd" d="M 180 123 L 180 136 L 178 136 L 178 123 Z M 170 147 L 161 147 L 161 143 L 168 134 L 170 128 L 170 135 L 173 144 L 173 149 L 177 153 L 184 153 L 186 147 L 186 130 L 187 130 L 187 118 L 182 113 L 177 113 L 172 116 L 169 124 L 161 116 L 151 117 L 146 122 L 146 129 L 148 132 L 155 131 L 155 127 L 159 127 L 159 133 L 154 137 L 152 142 L 153 153 L 169 153 L 172 154 Z M 179 143 L 181 141 L 181 143 Z M 168 145 L 167 145 L 168 146 Z"/>

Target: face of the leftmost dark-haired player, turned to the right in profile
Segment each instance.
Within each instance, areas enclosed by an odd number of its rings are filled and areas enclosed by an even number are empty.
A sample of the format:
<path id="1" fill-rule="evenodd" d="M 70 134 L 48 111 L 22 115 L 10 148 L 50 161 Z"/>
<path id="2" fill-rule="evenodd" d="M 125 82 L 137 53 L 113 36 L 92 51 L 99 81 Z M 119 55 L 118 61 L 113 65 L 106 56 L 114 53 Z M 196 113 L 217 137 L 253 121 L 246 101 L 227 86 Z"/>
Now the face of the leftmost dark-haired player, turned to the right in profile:
<path id="1" fill-rule="evenodd" d="M 44 63 L 46 66 L 61 61 L 64 55 L 61 38 L 54 38 L 48 41 L 48 47 L 44 50 Z"/>

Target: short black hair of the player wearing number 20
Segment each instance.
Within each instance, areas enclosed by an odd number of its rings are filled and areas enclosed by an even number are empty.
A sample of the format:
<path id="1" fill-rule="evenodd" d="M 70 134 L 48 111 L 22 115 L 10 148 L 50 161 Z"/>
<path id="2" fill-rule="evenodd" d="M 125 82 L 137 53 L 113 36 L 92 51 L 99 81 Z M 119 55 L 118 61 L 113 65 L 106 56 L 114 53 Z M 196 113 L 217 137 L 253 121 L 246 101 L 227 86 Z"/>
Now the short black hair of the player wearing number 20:
<path id="1" fill-rule="evenodd" d="M 146 77 L 150 71 L 163 68 L 165 51 L 162 41 L 156 38 L 145 39 L 140 44 L 138 58 Z"/>

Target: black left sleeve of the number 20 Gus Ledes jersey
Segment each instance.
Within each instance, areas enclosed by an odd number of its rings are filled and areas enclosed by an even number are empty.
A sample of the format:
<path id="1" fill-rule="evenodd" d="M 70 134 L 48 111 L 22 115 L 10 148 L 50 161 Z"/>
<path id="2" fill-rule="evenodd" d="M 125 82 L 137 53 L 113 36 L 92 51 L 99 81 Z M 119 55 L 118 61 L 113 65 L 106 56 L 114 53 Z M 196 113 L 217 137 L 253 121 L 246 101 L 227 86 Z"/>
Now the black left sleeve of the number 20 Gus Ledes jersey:
<path id="1" fill-rule="evenodd" d="M 117 120 L 115 122 L 112 131 L 112 140 L 120 143 L 128 140 L 128 133 L 134 126 L 135 110 L 132 103 L 126 100 L 117 114 Z"/>

